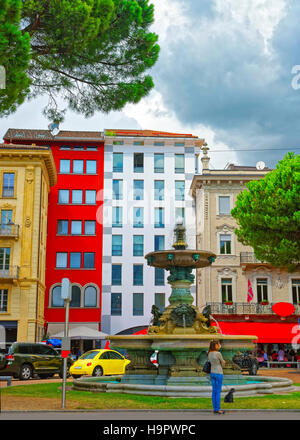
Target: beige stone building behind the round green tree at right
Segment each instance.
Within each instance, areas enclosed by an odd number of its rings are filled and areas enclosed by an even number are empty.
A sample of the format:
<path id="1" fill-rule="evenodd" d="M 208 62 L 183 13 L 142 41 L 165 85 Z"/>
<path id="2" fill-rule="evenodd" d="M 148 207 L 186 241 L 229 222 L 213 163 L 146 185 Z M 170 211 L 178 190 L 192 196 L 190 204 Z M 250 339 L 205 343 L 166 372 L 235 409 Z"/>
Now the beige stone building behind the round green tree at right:
<path id="1" fill-rule="evenodd" d="M 257 261 L 253 249 L 238 242 L 234 233 L 236 222 L 230 215 L 245 184 L 264 177 L 270 169 L 231 164 L 223 170 L 211 170 L 208 148 L 202 150 L 202 174 L 195 175 L 191 185 L 197 245 L 217 257 L 210 267 L 197 273 L 197 305 L 201 308 L 210 304 L 212 313 L 220 320 L 296 323 L 300 315 L 300 273 L 288 273 Z M 250 303 L 248 280 L 253 291 Z M 295 312 L 280 318 L 272 309 L 278 302 L 292 303 Z"/>

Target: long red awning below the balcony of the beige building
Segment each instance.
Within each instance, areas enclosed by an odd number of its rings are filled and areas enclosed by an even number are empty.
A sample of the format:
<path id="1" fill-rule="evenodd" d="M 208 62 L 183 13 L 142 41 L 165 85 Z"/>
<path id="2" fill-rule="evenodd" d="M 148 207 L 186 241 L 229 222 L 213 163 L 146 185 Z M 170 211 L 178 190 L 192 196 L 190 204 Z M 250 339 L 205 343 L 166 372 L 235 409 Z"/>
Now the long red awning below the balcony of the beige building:
<path id="1" fill-rule="evenodd" d="M 254 335 L 258 337 L 256 341 L 258 343 L 291 344 L 300 341 L 300 328 L 296 323 L 224 321 L 218 323 L 223 335 Z"/>

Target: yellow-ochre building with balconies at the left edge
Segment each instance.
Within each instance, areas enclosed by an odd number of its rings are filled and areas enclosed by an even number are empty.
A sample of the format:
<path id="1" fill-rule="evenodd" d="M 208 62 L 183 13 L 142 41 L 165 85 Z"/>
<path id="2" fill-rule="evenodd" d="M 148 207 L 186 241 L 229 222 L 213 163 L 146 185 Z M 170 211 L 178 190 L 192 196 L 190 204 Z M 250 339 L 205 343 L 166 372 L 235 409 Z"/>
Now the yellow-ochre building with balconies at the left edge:
<path id="1" fill-rule="evenodd" d="M 0 326 L 9 343 L 42 337 L 48 193 L 56 180 L 50 147 L 0 144 Z"/>

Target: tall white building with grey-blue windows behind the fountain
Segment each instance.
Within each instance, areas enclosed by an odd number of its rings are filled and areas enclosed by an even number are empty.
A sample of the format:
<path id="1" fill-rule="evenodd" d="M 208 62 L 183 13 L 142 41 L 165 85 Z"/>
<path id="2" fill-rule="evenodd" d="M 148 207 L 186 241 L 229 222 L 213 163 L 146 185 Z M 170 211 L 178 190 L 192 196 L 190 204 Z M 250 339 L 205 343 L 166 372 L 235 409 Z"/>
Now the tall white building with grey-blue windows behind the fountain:
<path id="1" fill-rule="evenodd" d="M 150 130 L 105 130 L 104 140 L 101 329 L 130 334 L 148 326 L 152 305 L 163 309 L 171 293 L 167 273 L 144 256 L 171 248 L 182 220 L 195 246 L 189 189 L 204 140 Z"/>

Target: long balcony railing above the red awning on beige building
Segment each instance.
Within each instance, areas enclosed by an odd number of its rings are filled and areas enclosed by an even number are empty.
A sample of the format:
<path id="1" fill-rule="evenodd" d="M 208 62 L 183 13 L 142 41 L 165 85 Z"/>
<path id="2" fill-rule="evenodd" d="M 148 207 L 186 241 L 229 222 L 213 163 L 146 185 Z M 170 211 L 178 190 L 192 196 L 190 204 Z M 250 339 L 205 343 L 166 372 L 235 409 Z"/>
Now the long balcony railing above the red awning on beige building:
<path id="1" fill-rule="evenodd" d="M 236 303 L 232 305 L 225 303 L 210 302 L 206 303 L 210 305 L 211 313 L 216 315 L 275 315 L 272 310 L 273 303 L 261 304 L 261 303 Z M 295 315 L 300 315 L 300 305 L 293 304 L 295 306 Z"/>

